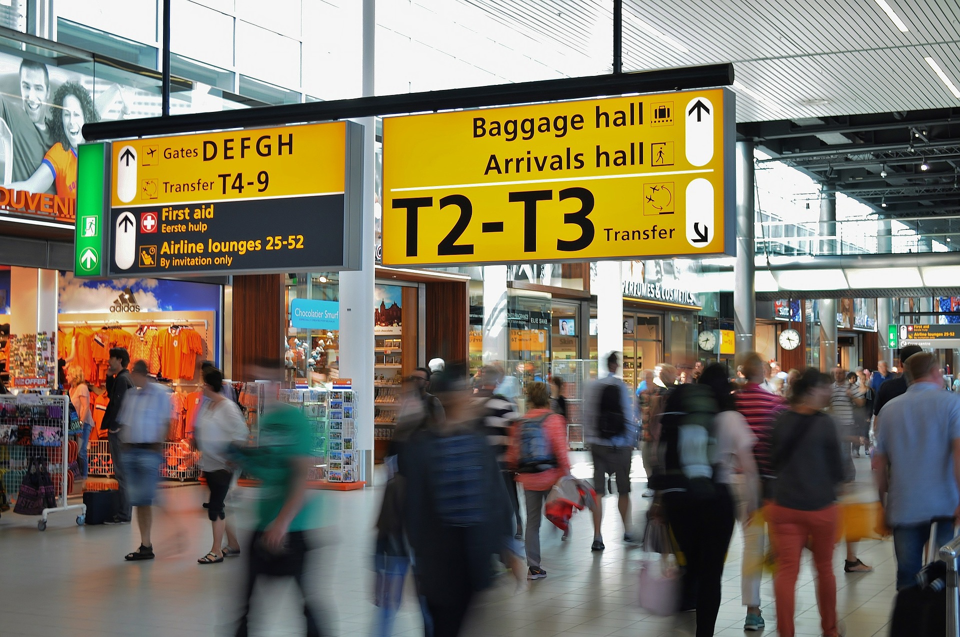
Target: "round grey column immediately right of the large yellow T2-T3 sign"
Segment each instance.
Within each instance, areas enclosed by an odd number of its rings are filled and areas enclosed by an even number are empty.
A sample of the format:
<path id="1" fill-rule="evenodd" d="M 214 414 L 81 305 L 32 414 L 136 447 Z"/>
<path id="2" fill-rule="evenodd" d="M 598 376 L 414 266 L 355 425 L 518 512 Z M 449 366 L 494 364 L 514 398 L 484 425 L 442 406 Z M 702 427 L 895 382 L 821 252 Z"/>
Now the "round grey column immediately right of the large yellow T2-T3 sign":
<path id="1" fill-rule="evenodd" d="M 733 333 L 736 354 L 754 350 L 754 143 L 736 143 L 736 263 L 733 265 Z"/>

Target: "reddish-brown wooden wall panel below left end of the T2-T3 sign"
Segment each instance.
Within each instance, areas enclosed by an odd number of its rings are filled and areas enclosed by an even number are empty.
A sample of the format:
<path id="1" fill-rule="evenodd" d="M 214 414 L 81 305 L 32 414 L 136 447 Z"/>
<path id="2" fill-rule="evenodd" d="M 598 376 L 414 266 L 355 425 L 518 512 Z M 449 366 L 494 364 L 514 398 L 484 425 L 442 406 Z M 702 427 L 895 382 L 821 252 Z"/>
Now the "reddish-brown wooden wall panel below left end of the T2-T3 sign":
<path id="1" fill-rule="evenodd" d="M 426 284 L 426 360 L 442 358 L 447 368 L 462 366 L 468 359 L 467 281 Z"/>

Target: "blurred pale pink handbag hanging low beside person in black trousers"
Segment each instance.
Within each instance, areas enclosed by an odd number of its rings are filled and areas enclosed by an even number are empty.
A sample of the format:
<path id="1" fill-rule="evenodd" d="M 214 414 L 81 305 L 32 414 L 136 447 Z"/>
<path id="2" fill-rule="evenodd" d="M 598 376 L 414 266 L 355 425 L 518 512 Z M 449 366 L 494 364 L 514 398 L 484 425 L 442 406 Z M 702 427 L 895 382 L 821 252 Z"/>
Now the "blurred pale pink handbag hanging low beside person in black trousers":
<path id="1" fill-rule="evenodd" d="M 659 519 L 651 519 L 643 532 L 644 555 L 640 559 L 640 607 L 655 615 L 673 615 L 680 608 L 681 569 L 670 542 L 670 531 Z"/>

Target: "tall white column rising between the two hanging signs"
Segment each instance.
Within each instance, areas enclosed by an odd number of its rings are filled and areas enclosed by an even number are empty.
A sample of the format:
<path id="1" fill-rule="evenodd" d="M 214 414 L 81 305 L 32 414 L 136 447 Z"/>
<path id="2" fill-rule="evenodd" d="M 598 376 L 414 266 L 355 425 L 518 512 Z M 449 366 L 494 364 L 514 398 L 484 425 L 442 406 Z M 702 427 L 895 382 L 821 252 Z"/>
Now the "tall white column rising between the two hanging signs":
<path id="1" fill-rule="evenodd" d="M 363 3 L 363 94 L 373 95 L 373 34 L 375 0 Z M 373 280 L 374 233 L 372 117 L 359 120 L 363 140 L 363 268 L 340 274 L 340 376 L 353 381 L 357 449 L 363 454 L 363 479 L 373 484 Z"/>

